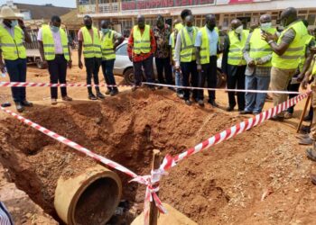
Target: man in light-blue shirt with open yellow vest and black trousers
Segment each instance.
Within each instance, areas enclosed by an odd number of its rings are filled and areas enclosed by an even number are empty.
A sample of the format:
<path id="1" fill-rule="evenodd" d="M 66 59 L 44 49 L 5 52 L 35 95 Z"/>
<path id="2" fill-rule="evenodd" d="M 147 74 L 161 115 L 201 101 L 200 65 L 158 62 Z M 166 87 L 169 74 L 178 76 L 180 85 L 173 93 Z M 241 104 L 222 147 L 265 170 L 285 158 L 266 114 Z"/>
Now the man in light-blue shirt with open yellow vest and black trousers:
<path id="1" fill-rule="evenodd" d="M 208 87 L 215 88 L 217 86 L 218 77 L 218 49 L 219 35 L 216 27 L 216 17 L 214 14 L 208 14 L 205 17 L 206 25 L 200 29 L 195 40 L 196 57 L 198 64 L 199 86 L 204 87 L 205 80 L 208 82 Z M 200 106 L 204 105 L 204 91 L 199 90 L 198 93 Z M 209 91 L 209 101 L 213 107 L 218 107 L 215 102 L 215 91 Z"/>

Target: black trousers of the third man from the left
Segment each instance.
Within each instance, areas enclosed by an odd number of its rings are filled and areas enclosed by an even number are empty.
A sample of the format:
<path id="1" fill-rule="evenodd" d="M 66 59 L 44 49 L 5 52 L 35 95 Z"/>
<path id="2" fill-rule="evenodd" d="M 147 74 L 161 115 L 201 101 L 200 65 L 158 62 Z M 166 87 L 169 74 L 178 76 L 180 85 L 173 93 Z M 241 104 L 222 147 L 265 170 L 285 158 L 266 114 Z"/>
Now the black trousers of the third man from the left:
<path id="1" fill-rule="evenodd" d="M 101 66 L 101 60 L 102 58 L 85 58 L 85 66 L 86 66 L 86 72 L 87 72 L 87 85 L 91 85 L 91 79 L 93 76 L 93 82 L 95 85 L 98 85 L 98 71 Z M 88 87 L 88 92 L 92 90 L 91 87 Z M 98 87 L 96 87 L 96 90 L 99 90 Z"/>

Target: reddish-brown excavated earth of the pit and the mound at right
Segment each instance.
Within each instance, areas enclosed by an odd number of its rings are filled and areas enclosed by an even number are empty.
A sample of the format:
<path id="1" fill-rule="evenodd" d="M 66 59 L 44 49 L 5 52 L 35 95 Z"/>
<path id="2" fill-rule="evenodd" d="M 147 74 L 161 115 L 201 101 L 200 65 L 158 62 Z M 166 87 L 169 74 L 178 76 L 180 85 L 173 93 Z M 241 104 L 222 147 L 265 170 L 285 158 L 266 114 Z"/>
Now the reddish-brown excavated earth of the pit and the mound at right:
<path id="1" fill-rule="evenodd" d="M 174 155 L 243 119 L 209 106 L 189 107 L 167 90 L 137 90 L 102 103 L 35 110 L 25 117 L 139 175 L 149 173 L 153 148 Z M 315 220 L 316 194 L 308 180 L 311 163 L 298 151 L 293 134 L 282 128 L 268 121 L 181 162 L 163 178 L 164 202 L 199 224 L 288 223 L 296 218 L 305 222 L 312 213 Z M 15 184 L 50 213 L 60 175 L 77 175 L 95 164 L 12 118 L 0 122 L 0 135 L 1 162 Z M 124 198 L 143 202 L 144 186 L 127 184 L 130 177 L 118 174 Z M 267 188 L 273 193 L 261 201 Z M 300 210 L 301 204 L 309 211 Z"/>

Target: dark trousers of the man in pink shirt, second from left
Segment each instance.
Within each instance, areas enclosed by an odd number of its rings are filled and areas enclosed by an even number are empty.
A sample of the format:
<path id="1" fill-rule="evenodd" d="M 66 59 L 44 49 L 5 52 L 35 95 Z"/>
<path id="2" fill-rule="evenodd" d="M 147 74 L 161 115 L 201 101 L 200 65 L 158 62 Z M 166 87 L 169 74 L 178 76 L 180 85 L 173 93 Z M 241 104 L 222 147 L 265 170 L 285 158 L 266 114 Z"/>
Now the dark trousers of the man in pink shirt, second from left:
<path id="1" fill-rule="evenodd" d="M 53 60 L 48 60 L 48 71 L 50 72 L 51 84 L 66 84 L 67 60 L 64 55 L 55 55 Z M 67 87 L 60 86 L 61 96 L 67 96 Z M 51 87 L 51 98 L 58 98 L 57 87 Z"/>

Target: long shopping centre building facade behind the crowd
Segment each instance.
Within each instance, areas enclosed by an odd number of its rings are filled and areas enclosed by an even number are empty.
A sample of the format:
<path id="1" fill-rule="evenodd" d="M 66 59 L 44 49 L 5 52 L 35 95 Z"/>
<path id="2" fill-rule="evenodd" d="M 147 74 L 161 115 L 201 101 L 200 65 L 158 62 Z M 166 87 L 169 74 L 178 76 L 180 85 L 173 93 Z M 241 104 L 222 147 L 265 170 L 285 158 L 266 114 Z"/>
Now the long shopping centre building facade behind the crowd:
<path id="1" fill-rule="evenodd" d="M 97 25 L 100 20 L 109 19 L 116 31 L 131 29 L 138 14 L 144 14 L 146 23 L 151 25 L 158 14 L 172 23 L 184 8 L 191 9 L 196 26 L 204 25 L 205 14 L 216 14 L 218 27 L 228 31 L 235 18 L 249 27 L 266 13 L 272 15 L 276 25 L 283 9 L 293 6 L 298 9 L 299 17 L 310 23 L 309 29 L 316 27 L 316 0 L 77 0 L 77 5 L 79 17 L 89 14 Z"/>

